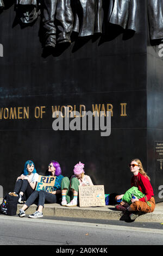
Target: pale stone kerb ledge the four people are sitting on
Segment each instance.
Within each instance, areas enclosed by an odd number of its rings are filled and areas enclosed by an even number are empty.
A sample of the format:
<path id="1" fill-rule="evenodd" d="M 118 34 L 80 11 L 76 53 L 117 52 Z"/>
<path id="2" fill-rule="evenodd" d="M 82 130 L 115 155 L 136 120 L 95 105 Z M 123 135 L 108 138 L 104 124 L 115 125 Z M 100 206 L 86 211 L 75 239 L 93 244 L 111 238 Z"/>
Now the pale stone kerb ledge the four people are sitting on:
<path id="1" fill-rule="evenodd" d="M 0 203 L 2 198 L 0 198 Z M 17 214 L 22 208 L 21 204 L 17 205 Z M 33 214 L 36 211 L 36 205 L 31 205 L 26 210 L 26 215 Z M 105 207 L 89 207 L 80 208 L 66 207 L 60 204 L 45 204 L 43 208 L 43 216 L 55 217 L 74 217 L 74 218 L 91 218 L 95 220 L 124 220 L 121 211 L 115 210 L 114 205 L 106 205 Z M 136 222 L 161 222 L 163 223 L 163 202 L 156 203 L 155 210 L 151 214 L 144 214 L 136 218 Z"/>

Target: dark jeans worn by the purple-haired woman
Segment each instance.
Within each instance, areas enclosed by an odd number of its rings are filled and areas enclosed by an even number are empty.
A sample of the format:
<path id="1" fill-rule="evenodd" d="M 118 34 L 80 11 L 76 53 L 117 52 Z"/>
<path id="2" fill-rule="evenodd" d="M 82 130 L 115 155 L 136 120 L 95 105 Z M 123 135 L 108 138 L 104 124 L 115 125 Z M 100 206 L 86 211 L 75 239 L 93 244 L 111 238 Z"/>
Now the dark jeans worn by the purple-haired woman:
<path id="1" fill-rule="evenodd" d="M 55 194 L 40 190 L 35 190 L 26 201 L 26 205 L 29 207 L 33 203 L 36 203 L 36 200 L 39 200 L 38 205 L 44 205 L 45 202 L 49 204 L 57 203 L 57 197 Z"/>

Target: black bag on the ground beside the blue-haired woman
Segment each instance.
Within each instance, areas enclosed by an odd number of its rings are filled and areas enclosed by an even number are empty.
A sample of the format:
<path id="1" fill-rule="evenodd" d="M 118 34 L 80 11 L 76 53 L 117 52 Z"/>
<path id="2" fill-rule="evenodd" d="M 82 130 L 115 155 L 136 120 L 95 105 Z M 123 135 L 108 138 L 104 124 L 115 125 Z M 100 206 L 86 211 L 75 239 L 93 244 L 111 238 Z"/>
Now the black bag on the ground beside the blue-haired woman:
<path id="1" fill-rule="evenodd" d="M 5 194 L 3 202 L 0 206 L 0 213 L 10 216 L 16 215 L 18 198 L 19 196 L 14 197 L 10 196 L 9 194 Z"/>

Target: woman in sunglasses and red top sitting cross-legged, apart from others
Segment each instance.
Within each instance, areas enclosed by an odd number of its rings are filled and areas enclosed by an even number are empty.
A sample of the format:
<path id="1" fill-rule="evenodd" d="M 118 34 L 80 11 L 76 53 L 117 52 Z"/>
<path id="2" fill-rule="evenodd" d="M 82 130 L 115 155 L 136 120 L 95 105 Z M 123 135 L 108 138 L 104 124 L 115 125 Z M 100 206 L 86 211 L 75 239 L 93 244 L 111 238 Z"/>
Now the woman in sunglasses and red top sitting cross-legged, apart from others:
<path id="1" fill-rule="evenodd" d="M 134 159 L 129 164 L 130 171 L 133 173 L 133 177 L 131 178 L 131 187 L 135 186 L 145 194 L 143 198 L 131 198 L 131 204 L 124 202 L 122 200 L 124 194 L 120 196 L 116 196 L 116 201 L 120 202 L 119 205 L 115 205 L 115 208 L 118 211 L 128 211 L 129 217 L 131 220 L 135 220 L 137 216 L 141 213 L 153 212 L 155 208 L 155 200 L 153 188 L 151 186 L 150 178 L 146 174 L 145 170 L 143 170 L 142 163 L 139 159 Z M 147 201 L 147 202 L 146 202 Z M 149 203 L 148 203 L 149 202 Z M 136 213 L 133 213 L 136 212 Z"/>

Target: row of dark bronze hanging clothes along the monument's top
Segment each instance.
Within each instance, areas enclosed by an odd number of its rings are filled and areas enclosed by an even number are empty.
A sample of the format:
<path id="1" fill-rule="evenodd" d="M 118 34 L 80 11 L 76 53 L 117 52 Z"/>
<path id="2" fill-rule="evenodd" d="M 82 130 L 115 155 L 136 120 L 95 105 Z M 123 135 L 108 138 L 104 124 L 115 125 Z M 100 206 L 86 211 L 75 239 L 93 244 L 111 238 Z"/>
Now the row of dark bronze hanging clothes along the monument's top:
<path id="1" fill-rule="evenodd" d="M 62 42 L 70 43 L 72 32 L 76 32 L 80 37 L 103 34 L 104 22 L 134 32 L 137 31 L 140 22 L 138 0 L 15 1 L 17 15 L 22 23 L 32 23 L 41 15 L 44 47 L 55 47 Z M 0 0 L 0 8 L 3 7 L 3 0 Z M 150 38 L 161 41 L 163 40 L 163 0 L 148 0 L 147 10 Z"/>

